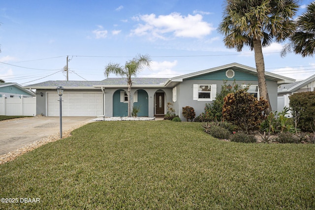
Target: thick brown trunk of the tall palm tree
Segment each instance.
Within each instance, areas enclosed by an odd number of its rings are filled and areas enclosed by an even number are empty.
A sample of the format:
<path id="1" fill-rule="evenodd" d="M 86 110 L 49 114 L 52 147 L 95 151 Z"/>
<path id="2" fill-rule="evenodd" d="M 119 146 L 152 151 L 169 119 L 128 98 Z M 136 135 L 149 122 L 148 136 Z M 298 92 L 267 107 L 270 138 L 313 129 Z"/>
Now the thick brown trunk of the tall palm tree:
<path id="1" fill-rule="evenodd" d="M 257 70 L 257 77 L 258 77 L 258 88 L 259 88 L 259 95 L 268 101 L 269 108 L 265 111 L 267 115 L 271 112 L 271 104 L 269 100 L 267 84 L 265 79 L 265 62 L 264 56 L 262 54 L 262 47 L 260 40 L 253 40 L 254 46 L 254 54 L 255 54 L 255 63 L 256 63 L 256 70 Z"/>

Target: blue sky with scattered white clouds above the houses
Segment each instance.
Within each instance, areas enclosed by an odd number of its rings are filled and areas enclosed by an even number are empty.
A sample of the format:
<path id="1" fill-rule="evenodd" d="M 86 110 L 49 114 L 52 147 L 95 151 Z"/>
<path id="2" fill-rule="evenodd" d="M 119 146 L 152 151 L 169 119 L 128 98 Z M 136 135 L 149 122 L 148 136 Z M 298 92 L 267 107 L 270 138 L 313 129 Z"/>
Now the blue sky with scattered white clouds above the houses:
<path id="1" fill-rule="evenodd" d="M 313 0 L 301 0 L 298 14 Z M 153 60 L 138 77 L 170 78 L 232 62 L 255 67 L 253 52 L 227 49 L 217 28 L 223 0 L 2 0 L 0 78 L 30 85 L 105 79 L 109 62 L 125 64 L 137 54 Z M 315 59 L 284 43 L 263 49 L 266 71 L 296 80 L 315 74 Z M 111 75 L 111 77 L 115 77 Z"/>

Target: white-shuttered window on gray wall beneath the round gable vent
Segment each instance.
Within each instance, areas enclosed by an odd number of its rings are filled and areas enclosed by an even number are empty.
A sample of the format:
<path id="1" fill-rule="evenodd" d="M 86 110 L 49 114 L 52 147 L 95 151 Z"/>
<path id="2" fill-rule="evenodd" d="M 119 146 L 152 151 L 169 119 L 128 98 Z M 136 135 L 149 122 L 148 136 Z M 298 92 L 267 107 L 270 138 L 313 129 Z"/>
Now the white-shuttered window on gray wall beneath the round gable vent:
<path id="1" fill-rule="evenodd" d="M 216 98 L 217 85 L 193 84 L 193 100 L 212 101 Z"/>

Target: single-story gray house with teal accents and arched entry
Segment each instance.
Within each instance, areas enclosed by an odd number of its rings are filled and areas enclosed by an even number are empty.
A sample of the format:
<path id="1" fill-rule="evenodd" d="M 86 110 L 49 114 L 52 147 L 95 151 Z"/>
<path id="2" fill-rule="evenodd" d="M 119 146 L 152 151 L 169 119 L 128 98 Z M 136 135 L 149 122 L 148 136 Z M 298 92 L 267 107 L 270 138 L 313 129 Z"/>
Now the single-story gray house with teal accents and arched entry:
<path id="1" fill-rule="evenodd" d="M 295 80 L 265 73 L 269 98 L 277 108 L 277 88 Z M 132 106 L 140 107 L 139 117 L 163 117 L 166 104 L 173 103 L 176 114 L 182 117 L 182 107 L 191 106 L 196 116 L 204 112 L 205 104 L 215 100 L 223 80 L 227 85 L 250 84 L 249 92 L 259 97 L 255 68 L 231 63 L 173 78 L 132 78 Z M 63 116 L 127 116 L 126 78 L 107 78 L 102 81 L 47 81 L 27 86 L 36 89 L 37 114 L 59 116 L 59 95 L 56 88 L 63 86 Z"/>

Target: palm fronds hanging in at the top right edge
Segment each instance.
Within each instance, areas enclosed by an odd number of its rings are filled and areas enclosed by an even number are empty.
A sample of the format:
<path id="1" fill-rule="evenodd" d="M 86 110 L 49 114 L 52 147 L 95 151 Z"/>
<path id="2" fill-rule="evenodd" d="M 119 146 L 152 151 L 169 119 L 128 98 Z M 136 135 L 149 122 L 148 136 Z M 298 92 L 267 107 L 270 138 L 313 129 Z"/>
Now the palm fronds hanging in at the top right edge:
<path id="1" fill-rule="evenodd" d="M 284 51 L 290 51 L 293 48 L 295 54 L 301 54 L 302 57 L 315 54 L 315 1 L 309 4 L 306 12 L 296 20 L 297 30 L 290 37 L 290 44 Z M 284 52 L 285 54 L 285 52 Z"/>

